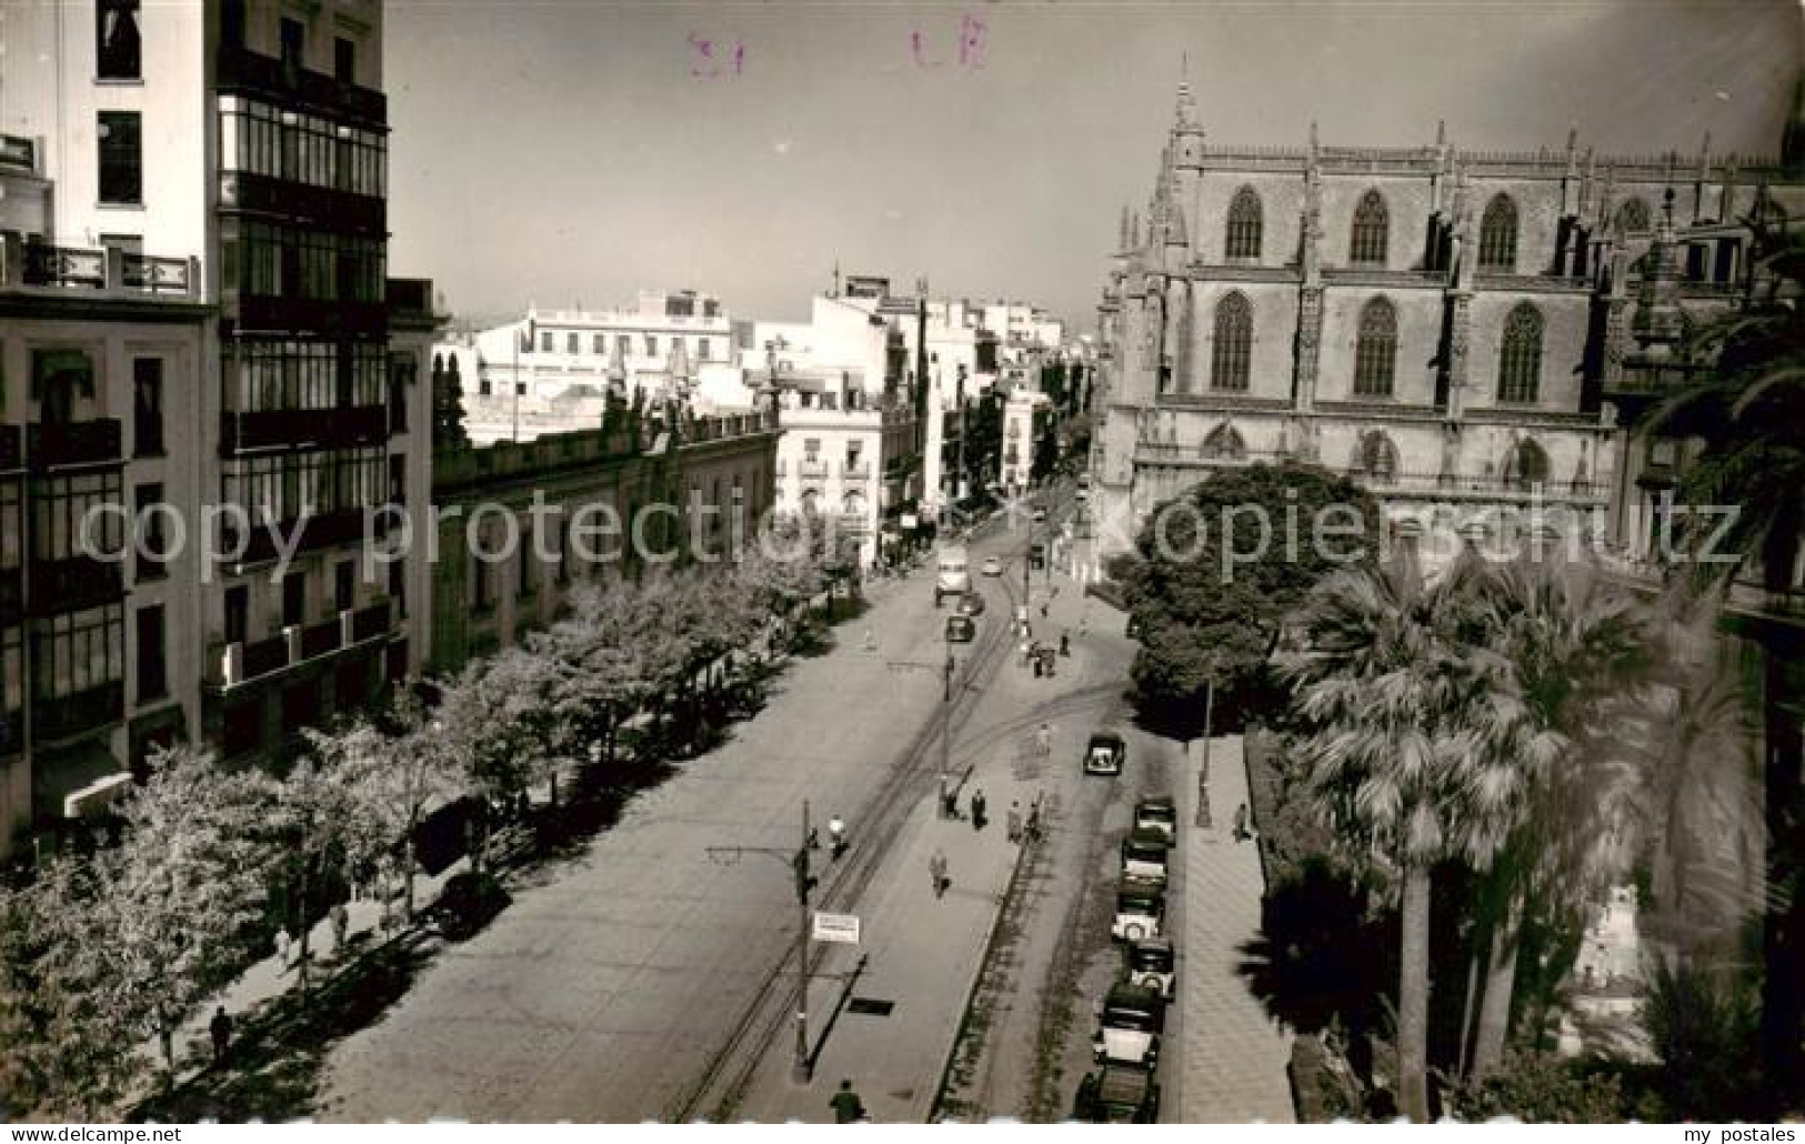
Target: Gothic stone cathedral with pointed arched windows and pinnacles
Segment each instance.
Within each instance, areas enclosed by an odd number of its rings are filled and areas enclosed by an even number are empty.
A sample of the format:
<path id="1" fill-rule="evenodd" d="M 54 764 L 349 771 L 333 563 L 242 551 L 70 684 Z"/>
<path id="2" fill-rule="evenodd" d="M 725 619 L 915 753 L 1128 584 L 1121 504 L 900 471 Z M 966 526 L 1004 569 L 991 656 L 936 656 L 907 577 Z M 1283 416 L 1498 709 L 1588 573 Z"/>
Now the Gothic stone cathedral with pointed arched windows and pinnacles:
<path id="1" fill-rule="evenodd" d="M 1099 305 L 1103 554 L 1211 471 L 1307 460 L 1399 534 L 1540 507 L 1634 552 L 1661 502 L 1630 419 L 1693 323 L 1753 289 L 1782 159 L 1206 141 L 1188 83 Z M 1623 419 L 1619 422 L 1619 419 Z M 1632 457 L 1634 453 L 1634 457 Z M 1462 523 L 1466 521 L 1466 523 Z M 1493 541 L 1507 541 L 1487 523 Z"/>

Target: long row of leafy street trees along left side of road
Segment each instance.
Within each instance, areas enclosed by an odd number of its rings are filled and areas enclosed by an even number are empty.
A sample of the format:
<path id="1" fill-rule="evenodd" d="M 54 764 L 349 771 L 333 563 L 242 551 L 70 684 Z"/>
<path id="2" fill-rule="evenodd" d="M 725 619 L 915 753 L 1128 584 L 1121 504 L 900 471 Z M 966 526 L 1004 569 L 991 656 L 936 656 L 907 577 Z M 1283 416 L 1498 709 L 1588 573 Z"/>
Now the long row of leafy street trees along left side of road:
<path id="1" fill-rule="evenodd" d="M 307 935 L 347 882 L 413 913 L 415 830 L 437 805 L 509 807 L 576 765 L 612 765 L 623 722 L 686 722 L 727 651 L 825 585 L 819 543 L 756 545 L 722 570 L 588 586 L 551 630 L 469 664 L 433 700 L 403 689 L 375 716 L 312 733 L 287 774 L 222 769 L 180 747 L 119 807 L 114 844 L 58 855 L 0 888 L 0 1092 L 9 1115 L 117 1115 L 161 1043 L 269 949 Z M 776 554 L 782 552 L 782 554 Z M 711 680 L 709 680 L 711 677 Z M 700 682 L 699 682 L 700 680 Z M 484 863 L 487 823 L 473 839 Z"/>

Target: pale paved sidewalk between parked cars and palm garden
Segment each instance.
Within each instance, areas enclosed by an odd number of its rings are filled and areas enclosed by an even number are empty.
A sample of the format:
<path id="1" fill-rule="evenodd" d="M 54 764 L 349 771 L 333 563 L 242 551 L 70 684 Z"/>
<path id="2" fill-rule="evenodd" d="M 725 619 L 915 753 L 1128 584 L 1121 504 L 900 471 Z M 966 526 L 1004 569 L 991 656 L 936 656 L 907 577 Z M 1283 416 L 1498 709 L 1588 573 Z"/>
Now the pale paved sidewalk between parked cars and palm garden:
<path id="1" fill-rule="evenodd" d="M 1200 758 L 1202 743 L 1193 751 Z M 1240 974 L 1240 947 L 1260 933 L 1260 850 L 1236 843 L 1235 808 L 1247 801 L 1242 736 L 1211 740 L 1209 830 L 1197 830 L 1197 781 L 1180 783 L 1184 949 L 1179 1005 L 1184 1045 L 1179 1119 L 1186 1124 L 1292 1124 L 1291 1032 L 1267 1016 Z"/>

